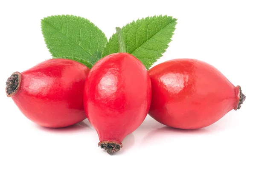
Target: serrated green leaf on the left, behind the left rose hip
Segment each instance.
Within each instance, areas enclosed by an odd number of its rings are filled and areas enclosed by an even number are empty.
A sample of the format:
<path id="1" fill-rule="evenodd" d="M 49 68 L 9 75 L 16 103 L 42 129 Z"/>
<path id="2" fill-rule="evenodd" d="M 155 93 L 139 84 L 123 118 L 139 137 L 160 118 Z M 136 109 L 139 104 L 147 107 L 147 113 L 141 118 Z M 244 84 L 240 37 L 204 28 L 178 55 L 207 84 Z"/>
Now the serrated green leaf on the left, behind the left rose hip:
<path id="1" fill-rule="evenodd" d="M 108 42 L 93 23 L 73 15 L 46 17 L 41 20 L 41 28 L 53 58 L 73 59 L 89 68 L 102 58 Z"/>

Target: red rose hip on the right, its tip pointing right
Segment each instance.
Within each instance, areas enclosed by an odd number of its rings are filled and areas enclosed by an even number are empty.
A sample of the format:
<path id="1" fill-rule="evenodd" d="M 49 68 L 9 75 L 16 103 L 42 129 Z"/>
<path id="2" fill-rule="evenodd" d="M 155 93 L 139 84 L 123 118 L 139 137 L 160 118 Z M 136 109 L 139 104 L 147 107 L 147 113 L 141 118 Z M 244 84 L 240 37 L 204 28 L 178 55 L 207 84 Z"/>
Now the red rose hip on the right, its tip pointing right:
<path id="1" fill-rule="evenodd" d="M 149 71 L 152 101 L 149 115 L 180 129 L 197 129 L 239 109 L 245 96 L 220 71 L 196 59 L 173 59 Z"/>

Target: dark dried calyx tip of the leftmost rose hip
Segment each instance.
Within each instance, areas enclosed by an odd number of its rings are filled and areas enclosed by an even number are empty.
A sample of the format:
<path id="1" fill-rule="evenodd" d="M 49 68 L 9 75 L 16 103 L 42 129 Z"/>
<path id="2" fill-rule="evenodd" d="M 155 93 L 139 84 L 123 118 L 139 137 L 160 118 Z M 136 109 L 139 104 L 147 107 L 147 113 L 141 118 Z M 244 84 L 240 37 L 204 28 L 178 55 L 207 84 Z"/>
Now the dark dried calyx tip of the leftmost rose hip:
<path id="1" fill-rule="evenodd" d="M 20 72 L 14 72 L 6 81 L 6 95 L 12 97 L 20 87 Z"/>

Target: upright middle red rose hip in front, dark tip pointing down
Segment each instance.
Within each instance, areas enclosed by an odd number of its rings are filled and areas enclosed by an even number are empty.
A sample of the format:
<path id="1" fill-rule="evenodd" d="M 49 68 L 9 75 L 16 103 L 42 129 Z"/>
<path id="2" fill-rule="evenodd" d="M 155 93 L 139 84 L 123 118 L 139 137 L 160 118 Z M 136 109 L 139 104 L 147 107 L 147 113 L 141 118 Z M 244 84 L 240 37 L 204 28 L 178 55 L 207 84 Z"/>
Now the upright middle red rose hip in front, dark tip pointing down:
<path id="1" fill-rule="evenodd" d="M 145 66 L 127 53 L 108 55 L 90 70 L 85 82 L 84 109 L 99 135 L 99 147 L 109 154 L 145 119 L 151 102 L 151 82 Z"/>

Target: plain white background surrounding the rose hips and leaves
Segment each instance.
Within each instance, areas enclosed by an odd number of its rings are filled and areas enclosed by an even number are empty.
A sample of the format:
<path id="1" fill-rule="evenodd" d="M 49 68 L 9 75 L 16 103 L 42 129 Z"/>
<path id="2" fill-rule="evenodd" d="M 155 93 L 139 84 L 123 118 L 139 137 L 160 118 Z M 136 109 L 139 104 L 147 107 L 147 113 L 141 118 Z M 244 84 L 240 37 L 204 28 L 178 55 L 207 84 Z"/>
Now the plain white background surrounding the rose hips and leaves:
<path id="1" fill-rule="evenodd" d="M 254 0 L 0 2 L 0 170 L 256 169 L 256 5 Z M 5 81 L 51 58 L 41 19 L 73 14 L 95 23 L 109 38 L 115 27 L 167 14 L 178 19 L 164 57 L 195 58 L 218 68 L 246 101 L 217 123 L 199 130 L 166 128 L 149 116 L 109 156 L 97 147 L 88 120 L 62 129 L 35 125 L 5 94 Z M 156 64 L 157 64 L 156 63 Z"/>

